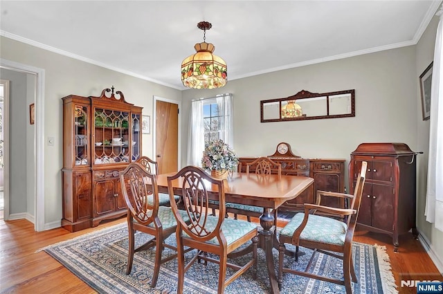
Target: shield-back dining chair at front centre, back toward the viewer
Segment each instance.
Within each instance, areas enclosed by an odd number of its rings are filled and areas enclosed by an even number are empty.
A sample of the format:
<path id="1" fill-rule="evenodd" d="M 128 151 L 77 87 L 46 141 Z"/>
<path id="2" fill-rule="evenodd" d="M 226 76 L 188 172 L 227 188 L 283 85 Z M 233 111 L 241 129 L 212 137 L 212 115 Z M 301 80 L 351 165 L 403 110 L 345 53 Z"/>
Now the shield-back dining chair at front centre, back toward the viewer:
<path id="1" fill-rule="evenodd" d="M 181 180 L 181 181 L 179 181 Z M 257 226 L 247 221 L 225 218 L 225 190 L 224 180 L 213 178 L 200 167 L 183 167 L 174 176 L 168 176 L 168 190 L 170 198 L 174 196 L 174 185 L 179 185 L 181 201 L 190 217 L 186 223 L 177 208 L 171 202 L 172 211 L 177 218 L 177 251 L 179 264 L 179 280 L 177 293 L 183 293 L 183 282 L 186 271 L 196 260 L 210 261 L 219 264 L 219 279 L 217 293 L 224 293 L 224 289 L 239 275 L 252 267 L 253 278 L 257 277 Z M 178 183 L 178 184 L 177 184 Z M 210 187 L 210 190 L 208 190 Z M 176 191 L 177 192 L 177 191 Z M 218 199 L 218 216 L 210 214 L 208 200 Z M 252 241 L 252 257 L 243 266 L 228 261 L 228 254 L 248 241 Z M 194 248 L 197 254 L 185 264 L 183 248 Z M 208 255 L 209 254 L 209 255 Z M 218 256 L 218 258 L 217 258 Z M 235 273 L 226 278 L 226 269 L 232 268 Z"/>

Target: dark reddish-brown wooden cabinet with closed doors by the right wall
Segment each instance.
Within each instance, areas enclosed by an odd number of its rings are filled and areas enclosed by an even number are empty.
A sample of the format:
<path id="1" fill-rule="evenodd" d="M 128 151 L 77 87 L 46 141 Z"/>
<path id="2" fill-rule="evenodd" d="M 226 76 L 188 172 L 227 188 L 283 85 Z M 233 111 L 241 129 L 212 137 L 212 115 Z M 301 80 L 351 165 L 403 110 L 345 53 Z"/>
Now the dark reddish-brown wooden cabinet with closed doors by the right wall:
<path id="1" fill-rule="evenodd" d="M 415 156 L 404 143 L 362 143 L 351 153 L 349 176 L 354 192 L 361 162 L 368 162 L 357 226 L 390 235 L 394 250 L 399 235 L 415 226 Z"/>

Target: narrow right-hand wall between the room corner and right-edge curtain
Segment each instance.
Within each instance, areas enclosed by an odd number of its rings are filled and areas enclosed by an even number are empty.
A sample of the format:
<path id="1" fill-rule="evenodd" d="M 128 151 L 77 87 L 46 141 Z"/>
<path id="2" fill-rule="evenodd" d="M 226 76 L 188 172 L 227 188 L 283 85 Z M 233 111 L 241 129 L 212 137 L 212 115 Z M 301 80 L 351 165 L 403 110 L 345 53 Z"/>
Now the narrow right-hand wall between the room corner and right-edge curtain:
<path id="1" fill-rule="evenodd" d="M 433 61 L 435 34 L 437 33 L 438 17 L 434 17 L 426 28 L 424 34 L 417 44 L 415 75 L 418 77 L 423 73 L 426 67 Z M 428 151 L 429 151 L 429 122 L 422 118 L 422 102 L 420 98 L 420 88 L 417 85 L 417 148 L 424 151 L 424 154 L 417 157 L 417 227 L 420 233 L 428 242 L 431 254 L 440 259 L 437 264 L 440 271 L 443 272 L 443 232 L 435 229 L 435 226 L 426 221 L 424 208 L 426 205 L 426 176 L 428 174 Z"/>

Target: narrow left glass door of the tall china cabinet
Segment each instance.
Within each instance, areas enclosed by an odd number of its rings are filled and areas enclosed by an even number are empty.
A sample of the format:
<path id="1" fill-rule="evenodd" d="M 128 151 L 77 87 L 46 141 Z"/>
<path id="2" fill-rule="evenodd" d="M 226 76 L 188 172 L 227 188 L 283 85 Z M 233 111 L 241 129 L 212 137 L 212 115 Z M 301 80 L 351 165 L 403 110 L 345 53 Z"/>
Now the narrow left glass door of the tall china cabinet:
<path id="1" fill-rule="evenodd" d="M 75 105 L 74 106 L 75 166 L 89 165 L 87 118 L 88 118 L 88 108 L 84 105 Z"/>

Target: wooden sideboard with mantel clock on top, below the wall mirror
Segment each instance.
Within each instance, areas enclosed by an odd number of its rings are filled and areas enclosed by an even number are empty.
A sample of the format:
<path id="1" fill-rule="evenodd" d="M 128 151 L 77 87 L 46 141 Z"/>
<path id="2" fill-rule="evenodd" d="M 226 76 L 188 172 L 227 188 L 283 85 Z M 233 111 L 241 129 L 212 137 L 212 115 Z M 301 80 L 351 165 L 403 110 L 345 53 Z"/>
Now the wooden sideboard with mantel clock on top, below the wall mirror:
<path id="1" fill-rule="evenodd" d="M 285 148 L 280 148 L 279 152 L 278 149 L 281 145 L 284 145 Z M 314 203 L 317 190 L 345 192 L 345 159 L 301 158 L 292 154 L 291 148 L 287 143 L 279 143 L 275 154 L 267 157 L 271 158 L 275 163 L 282 165 L 282 174 L 314 178 L 313 186 L 296 197 L 296 199 L 284 203 L 279 210 L 301 210 L 303 203 Z M 240 157 L 239 172 L 246 172 L 246 163 L 251 163 L 257 158 Z M 255 167 L 251 166 L 250 172 L 254 171 Z M 336 208 L 345 207 L 343 199 L 336 199 L 335 197 L 328 197 L 328 199 L 325 197 L 320 204 Z"/>

